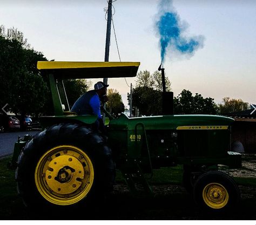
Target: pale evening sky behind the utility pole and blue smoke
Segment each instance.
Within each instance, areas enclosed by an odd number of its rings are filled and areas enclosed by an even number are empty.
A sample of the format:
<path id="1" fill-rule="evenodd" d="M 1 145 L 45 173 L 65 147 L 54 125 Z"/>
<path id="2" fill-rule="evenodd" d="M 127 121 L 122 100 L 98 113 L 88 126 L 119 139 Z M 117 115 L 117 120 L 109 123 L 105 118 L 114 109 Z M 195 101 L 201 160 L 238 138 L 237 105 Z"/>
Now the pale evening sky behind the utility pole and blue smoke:
<path id="1" fill-rule="evenodd" d="M 169 2 L 169 1 L 166 1 Z M 156 30 L 157 0 L 113 2 L 113 22 L 122 62 L 140 62 L 139 71 L 154 72 L 161 63 Z M 105 0 L 0 0 L 0 25 L 22 31 L 49 60 L 103 62 Z M 256 1 L 173 0 L 187 36 L 204 36 L 193 56 L 165 58 L 165 74 L 174 96 L 186 89 L 221 103 L 224 97 L 256 104 Z M 109 61 L 118 62 L 113 27 Z M 109 79 L 127 106 L 136 78 Z M 93 80 L 94 81 L 97 80 Z"/>

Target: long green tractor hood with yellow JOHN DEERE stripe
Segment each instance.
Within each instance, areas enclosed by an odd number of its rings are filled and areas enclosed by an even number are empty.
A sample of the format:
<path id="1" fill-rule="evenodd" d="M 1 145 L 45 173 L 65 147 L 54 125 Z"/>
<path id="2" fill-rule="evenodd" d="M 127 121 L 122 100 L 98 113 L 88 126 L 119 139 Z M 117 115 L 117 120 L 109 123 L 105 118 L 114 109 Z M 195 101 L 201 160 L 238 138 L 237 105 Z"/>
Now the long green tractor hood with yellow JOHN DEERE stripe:
<path id="1" fill-rule="evenodd" d="M 227 129 L 234 120 L 218 115 L 160 115 L 128 118 L 125 114 L 110 121 L 110 129 L 134 129 L 142 123 L 145 129 Z"/>

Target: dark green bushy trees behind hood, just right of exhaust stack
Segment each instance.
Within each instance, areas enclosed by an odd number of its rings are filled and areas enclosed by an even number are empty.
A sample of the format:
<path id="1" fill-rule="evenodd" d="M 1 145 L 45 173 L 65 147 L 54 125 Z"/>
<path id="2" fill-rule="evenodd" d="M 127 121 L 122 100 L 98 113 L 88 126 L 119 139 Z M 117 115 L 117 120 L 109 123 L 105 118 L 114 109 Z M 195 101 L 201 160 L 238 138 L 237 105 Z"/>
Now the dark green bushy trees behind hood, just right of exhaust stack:
<path id="1" fill-rule="evenodd" d="M 216 114 L 217 105 L 214 103 L 213 98 L 203 98 L 201 94 L 192 93 L 188 90 L 183 90 L 174 97 L 174 113 L 175 114 Z"/>

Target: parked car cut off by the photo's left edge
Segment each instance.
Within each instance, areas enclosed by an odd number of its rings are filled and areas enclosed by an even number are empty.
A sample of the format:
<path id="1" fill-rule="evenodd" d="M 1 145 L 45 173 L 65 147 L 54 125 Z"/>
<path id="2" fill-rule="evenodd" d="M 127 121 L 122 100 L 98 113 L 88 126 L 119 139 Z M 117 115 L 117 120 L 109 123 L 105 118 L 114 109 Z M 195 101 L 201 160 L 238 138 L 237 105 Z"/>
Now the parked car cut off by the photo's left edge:
<path id="1" fill-rule="evenodd" d="M 19 120 L 14 115 L 0 115 L 0 132 L 18 130 L 20 127 Z"/>

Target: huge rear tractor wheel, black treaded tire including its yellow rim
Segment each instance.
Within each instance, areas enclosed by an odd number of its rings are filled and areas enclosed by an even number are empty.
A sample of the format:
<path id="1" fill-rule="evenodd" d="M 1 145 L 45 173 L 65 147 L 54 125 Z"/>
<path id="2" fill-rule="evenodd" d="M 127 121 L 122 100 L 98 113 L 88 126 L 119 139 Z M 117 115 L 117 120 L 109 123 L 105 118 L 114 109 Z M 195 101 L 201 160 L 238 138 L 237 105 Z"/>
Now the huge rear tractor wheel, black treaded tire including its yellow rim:
<path id="1" fill-rule="evenodd" d="M 78 124 L 53 125 L 18 158 L 18 193 L 26 206 L 70 206 L 113 188 L 111 149 L 99 133 Z"/>

